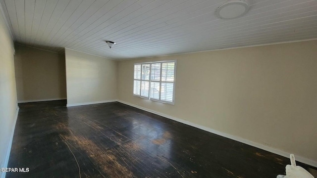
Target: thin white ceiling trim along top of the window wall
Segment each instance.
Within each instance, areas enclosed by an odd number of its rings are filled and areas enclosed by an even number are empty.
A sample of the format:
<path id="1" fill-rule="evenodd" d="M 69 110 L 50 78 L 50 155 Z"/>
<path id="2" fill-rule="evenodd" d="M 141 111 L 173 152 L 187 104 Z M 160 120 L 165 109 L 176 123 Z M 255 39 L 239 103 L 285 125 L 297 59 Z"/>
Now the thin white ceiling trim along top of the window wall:
<path id="1" fill-rule="evenodd" d="M 223 49 L 212 49 L 212 50 L 204 50 L 204 51 L 197 51 L 197 52 L 186 52 L 186 53 L 177 53 L 177 54 L 168 54 L 168 55 L 158 55 L 158 56 L 151 56 L 151 57 L 136 57 L 136 58 L 131 58 L 131 59 L 117 59 L 117 60 L 118 61 L 124 61 L 124 60 L 132 60 L 132 59 L 146 59 L 146 58 L 155 58 L 155 57 L 164 57 L 164 56 L 193 54 L 193 53 L 199 53 L 199 52 L 210 52 L 210 51 L 219 51 L 219 50 L 228 50 L 228 49 L 239 49 L 239 48 L 246 48 L 246 47 L 257 47 L 257 46 L 266 46 L 266 45 L 280 45 L 280 44 L 288 44 L 288 43 L 307 42 L 307 41 L 314 41 L 314 40 L 317 40 L 317 38 L 306 39 L 306 40 L 295 40 L 295 41 L 288 41 L 288 42 L 276 42 L 276 43 L 268 43 L 268 44 L 260 44 L 260 45 L 247 45 L 247 46 L 239 46 L 239 47 L 229 47 L 229 48 L 223 48 Z"/>

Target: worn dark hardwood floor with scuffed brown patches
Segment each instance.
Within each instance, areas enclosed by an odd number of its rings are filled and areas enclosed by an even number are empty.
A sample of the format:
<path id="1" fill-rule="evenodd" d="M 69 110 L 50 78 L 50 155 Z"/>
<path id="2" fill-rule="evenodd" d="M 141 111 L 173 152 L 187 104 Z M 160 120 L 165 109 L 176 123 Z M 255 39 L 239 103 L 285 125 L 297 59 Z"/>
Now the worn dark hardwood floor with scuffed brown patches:
<path id="1" fill-rule="evenodd" d="M 276 178 L 290 164 L 118 102 L 65 104 L 19 104 L 8 167 L 29 172 L 6 178 Z"/>

